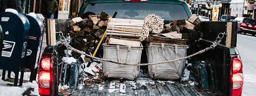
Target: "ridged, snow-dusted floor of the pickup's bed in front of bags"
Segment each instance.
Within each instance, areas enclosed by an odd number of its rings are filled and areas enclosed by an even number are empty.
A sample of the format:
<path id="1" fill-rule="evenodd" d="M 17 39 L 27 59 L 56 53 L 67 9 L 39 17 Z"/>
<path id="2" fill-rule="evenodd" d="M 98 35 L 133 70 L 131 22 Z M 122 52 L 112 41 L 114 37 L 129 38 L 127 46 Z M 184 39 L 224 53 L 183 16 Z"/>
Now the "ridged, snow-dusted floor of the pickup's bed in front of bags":
<path id="1" fill-rule="evenodd" d="M 104 84 L 80 86 L 72 96 L 214 96 L 198 92 L 190 81 L 152 80 L 140 73 L 134 81 L 106 80 Z"/>

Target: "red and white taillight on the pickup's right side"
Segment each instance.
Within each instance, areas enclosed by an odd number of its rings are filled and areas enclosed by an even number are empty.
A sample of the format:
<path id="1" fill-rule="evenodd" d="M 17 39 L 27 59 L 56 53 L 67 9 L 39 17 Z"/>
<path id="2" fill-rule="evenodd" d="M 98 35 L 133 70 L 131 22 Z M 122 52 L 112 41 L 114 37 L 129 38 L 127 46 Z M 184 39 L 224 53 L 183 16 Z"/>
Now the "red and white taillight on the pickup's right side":
<path id="1" fill-rule="evenodd" d="M 242 61 L 239 55 L 232 56 L 232 94 L 231 96 L 241 96 L 242 95 L 242 86 L 244 83 L 243 70 L 242 70 Z"/>

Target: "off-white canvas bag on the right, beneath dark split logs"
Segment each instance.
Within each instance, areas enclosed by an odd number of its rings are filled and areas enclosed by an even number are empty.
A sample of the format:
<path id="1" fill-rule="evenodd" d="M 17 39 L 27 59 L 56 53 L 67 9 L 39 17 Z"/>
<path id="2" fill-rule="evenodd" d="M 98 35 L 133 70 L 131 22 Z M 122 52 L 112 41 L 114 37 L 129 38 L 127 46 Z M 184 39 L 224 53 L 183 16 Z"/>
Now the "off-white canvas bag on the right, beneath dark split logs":
<path id="1" fill-rule="evenodd" d="M 174 60 L 187 56 L 187 45 L 170 45 L 150 43 L 147 47 L 149 63 Z M 186 60 L 180 60 L 160 65 L 149 65 L 149 76 L 152 79 L 179 79 L 183 75 Z"/>

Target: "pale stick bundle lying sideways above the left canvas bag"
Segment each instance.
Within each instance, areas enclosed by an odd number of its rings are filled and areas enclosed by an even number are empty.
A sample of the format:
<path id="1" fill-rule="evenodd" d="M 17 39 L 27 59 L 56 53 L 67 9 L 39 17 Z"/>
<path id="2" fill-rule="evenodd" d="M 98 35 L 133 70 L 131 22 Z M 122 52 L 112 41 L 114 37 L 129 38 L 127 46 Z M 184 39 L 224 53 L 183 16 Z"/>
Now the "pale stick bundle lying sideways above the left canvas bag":
<path id="1" fill-rule="evenodd" d="M 143 20 L 111 18 L 107 25 L 107 36 L 140 38 L 143 23 Z"/>

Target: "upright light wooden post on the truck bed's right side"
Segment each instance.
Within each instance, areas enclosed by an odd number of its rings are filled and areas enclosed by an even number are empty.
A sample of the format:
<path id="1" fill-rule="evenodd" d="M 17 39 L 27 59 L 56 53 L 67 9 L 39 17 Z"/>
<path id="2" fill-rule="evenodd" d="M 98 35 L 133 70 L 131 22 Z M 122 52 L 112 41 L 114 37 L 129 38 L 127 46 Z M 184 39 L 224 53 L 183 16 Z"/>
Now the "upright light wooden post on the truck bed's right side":
<path id="1" fill-rule="evenodd" d="M 226 46 L 227 47 L 231 47 L 231 46 L 235 47 L 235 44 L 232 44 L 232 41 L 235 40 L 235 38 L 234 38 L 235 33 L 236 33 L 235 26 L 236 26 L 235 23 L 232 23 L 232 22 L 227 23 L 227 37 L 226 37 Z"/>

